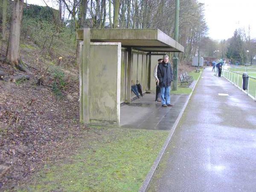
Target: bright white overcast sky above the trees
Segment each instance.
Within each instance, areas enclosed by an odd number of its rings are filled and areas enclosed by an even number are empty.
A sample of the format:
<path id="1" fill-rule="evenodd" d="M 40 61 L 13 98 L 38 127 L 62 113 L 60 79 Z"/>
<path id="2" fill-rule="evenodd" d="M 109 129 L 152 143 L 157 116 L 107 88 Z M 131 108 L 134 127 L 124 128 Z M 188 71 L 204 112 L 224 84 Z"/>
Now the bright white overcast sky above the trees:
<path id="1" fill-rule="evenodd" d="M 26 0 L 25 0 L 26 2 Z M 51 0 L 45 0 L 48 6 L 55 7 Z M 238 28 L 244 28 L 250 36 L 256 38 L 256 0 L 198 0 L 205 4 L 205 19 L 209 27 L 208 36 L 214 40 L 228 39 Z M 45 6 L 43 0 L 27 0 L 29 4 Z"/>

